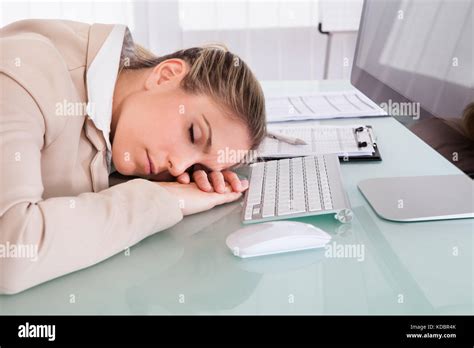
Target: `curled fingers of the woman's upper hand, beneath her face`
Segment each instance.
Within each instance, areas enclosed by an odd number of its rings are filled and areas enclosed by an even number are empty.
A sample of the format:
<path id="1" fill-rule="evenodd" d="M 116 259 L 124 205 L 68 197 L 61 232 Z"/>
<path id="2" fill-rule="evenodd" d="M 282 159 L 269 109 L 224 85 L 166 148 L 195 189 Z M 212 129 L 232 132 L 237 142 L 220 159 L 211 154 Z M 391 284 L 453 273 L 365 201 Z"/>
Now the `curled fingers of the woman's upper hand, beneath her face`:
<path id="1" fill-rule="evenodd" d="M 223 170 L 222 172 L 210 172 L 199 169 L 192 172 L 193 181 L 197 187 L 205 192 L 225 192 L 226 185 L 230 185 L 234 192 L 243 192 L 248 186 L 248 180 L 240 180 L 240 178 L 231 170 Z M 184 172 L 176 178 L 179 183 L 189 184 L 191 177 L 188 172 Z"/>

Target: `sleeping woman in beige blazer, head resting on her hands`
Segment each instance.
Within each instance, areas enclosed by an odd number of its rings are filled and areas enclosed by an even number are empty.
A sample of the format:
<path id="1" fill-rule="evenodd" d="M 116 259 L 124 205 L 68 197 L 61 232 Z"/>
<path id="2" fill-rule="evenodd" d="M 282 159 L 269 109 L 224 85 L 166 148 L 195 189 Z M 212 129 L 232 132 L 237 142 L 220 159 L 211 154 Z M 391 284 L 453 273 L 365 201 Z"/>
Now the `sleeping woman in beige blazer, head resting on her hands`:
<path id="1" fill-rule="evenodd" d="M 0 51 L 0 246 L 34 250 L 0 257 L 0 293 L 246 190 L 231 169 L 266 134 L 264 97 L 225 47 L 157 57 L 122 25 L 24 20 L 0 30 Z"/>

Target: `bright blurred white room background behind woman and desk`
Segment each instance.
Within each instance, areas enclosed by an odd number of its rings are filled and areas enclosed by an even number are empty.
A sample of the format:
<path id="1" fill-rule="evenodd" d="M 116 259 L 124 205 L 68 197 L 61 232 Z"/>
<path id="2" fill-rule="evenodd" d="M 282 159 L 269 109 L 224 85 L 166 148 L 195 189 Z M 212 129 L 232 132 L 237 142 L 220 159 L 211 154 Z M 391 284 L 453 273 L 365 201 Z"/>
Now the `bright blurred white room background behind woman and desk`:
<path id="1" fill-rule="evenodd" d="M 26 18 L 127 25 L 155 54 L 222 42 L 261 80 L 349 79 L 362 0 L 2 1 Z"/>

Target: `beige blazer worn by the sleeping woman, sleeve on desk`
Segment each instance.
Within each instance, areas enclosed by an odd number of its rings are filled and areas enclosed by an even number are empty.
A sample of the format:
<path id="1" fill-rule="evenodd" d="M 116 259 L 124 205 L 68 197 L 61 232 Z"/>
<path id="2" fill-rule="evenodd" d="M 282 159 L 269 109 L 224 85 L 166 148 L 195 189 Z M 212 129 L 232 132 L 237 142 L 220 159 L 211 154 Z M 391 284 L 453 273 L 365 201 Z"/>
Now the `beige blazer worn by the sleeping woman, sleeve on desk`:
<path id="1" fill-rule="evenodd" d="M 88 116 L 56 114 L 58 102 L 87 102 L 86 72 L 112 27 L 0 30 L 0 293 L 94 265 L 183 218 L 156 183 L 110 186 L 102 133 Z"/>

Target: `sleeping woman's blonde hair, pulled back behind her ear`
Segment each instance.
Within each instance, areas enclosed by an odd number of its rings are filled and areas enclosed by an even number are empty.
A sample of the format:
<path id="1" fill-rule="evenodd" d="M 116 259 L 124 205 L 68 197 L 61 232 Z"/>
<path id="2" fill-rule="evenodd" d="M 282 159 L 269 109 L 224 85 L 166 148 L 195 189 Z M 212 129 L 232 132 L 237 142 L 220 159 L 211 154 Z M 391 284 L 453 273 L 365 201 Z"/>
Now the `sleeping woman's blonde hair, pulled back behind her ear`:
<path id="1" fill-rule="evenodd" d="M 192 47 L 157 57 L 134 44 L 125 69 L 155 67 L 161 62 L 178 58 L 189 65 L 181 81 L 184 91 L 211 97 L 224 110 L 236 115 L 249 130 L 251 149 L 266 135 L 265 99 L 262 88 L 247 64 L 229 52 L 222 44 Z"/>

